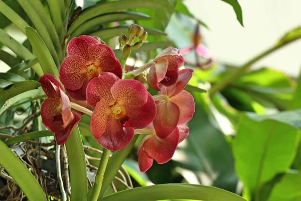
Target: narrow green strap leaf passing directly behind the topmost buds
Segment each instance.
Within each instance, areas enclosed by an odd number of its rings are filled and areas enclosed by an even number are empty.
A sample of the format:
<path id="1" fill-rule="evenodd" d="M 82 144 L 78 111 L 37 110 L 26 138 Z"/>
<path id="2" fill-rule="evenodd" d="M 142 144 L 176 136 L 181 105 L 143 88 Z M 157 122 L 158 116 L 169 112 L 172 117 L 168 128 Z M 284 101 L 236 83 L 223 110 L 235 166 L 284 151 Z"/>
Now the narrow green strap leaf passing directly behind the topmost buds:
<path id="1" fill-rule="evenodd" d="M 97 32 L 93 32 L 89 35 L 90 36 L 98 36 L 102 40 L 110 39 L 115 36 L 119 36 L 122 33 L 126 34 L 127 27 L 128 27 L 128 25 L 125 25 L 125 26 L 120 25 L 118 27 L 102 29 Z M 147 31 L 148 35 L 154 35 L 154 36 L 165 36 L 166 35 L 164 32 L 157 30 L 157 29 L 152 29 L 152 28 L 147 28 L 147 27 L 143 27 L 143 28 L 145 31 Z"/>

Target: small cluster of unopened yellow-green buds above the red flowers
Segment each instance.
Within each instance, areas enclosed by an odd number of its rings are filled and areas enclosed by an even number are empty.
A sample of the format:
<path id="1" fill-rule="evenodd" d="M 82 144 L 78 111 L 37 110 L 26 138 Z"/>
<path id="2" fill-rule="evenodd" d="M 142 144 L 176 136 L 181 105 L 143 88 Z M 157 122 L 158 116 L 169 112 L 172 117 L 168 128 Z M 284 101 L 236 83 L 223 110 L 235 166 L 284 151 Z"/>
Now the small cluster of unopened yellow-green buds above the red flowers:
<path id="1" fill-rule="evenodd" d="M 132 50 L 140 48 L 143 42 L 147 38 L 147 32 L 144 31 L 143 27 L 140 27 L 136 24 L 131 24 L 127 29 L 128 37 L 124 34 L 121 34 L 118 38 L 119 49 L 123 54 L 124 58 L 127 58 Z M 139 41 L 134 43 L 134 40 L 138 38 Z M 134 43 L 134 44 L 133 44 Z"/>

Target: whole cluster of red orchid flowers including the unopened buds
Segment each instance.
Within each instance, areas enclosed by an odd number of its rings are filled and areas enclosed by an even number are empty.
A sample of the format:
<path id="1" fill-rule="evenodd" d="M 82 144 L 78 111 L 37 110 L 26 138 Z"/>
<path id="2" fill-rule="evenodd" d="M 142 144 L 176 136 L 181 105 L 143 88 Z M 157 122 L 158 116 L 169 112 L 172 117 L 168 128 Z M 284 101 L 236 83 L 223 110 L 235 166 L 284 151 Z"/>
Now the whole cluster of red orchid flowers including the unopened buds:
<path id="1" fill-rule="evenodd" d="M 131 47 L 140 47 L 147 37 L 138 28 L 141 27 L 135 25 L 129 29 L 128 40 L 121 36 L 120 47 L 127 54 L 125 58 Z M 140 41 L 131 46 L 128 41 L 133 43 L 135 37 L 141 37 Z M 67 141 L 81 120 L 79 114 L 84 112 L 91 115 L 91 132 L 105 149 L 120 151 L 134 135 L 146 134 L 138 147 L 141 172 L 147 171 L 153 160 L 166 163 L 188 136 L 189 128 L 185 124 L 195 111 L 193 96 L 184 90 L 193 70 L 179 70 L 184 65 L 179 52 L 169 47 L 153 61 L 124 75 L 124 66 L 101 40 L 91 36 L 73 38 L 59 70 L 59 79 L 68 96 L 53 75 L 44 74 L 39 79 L 47 95 L 41 105 L 43 124 L 55 133 L 56 143 L 60 145 Z M 154 96 L 137 79 L 148 68 L 148 83 L 159 91 Z"/>

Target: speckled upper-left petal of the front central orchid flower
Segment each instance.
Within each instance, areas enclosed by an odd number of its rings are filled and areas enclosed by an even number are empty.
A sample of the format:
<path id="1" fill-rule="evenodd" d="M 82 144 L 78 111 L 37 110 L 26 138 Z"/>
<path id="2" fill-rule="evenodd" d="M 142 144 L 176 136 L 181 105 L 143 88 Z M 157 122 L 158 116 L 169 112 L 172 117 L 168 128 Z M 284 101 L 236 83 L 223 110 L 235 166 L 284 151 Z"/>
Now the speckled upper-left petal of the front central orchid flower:
<path id="1" fill-rule="evenodd" d="M 95 107 L 101 98 L 104 98 L 107 104 L 110 104 L 114 100 L 111 94 L 111 87 L 118 80 L 119 78 L 110 72 L 100 73 L 98 77 L 91 79 L 86 89 L 88 104 L 91 107 Z"/>

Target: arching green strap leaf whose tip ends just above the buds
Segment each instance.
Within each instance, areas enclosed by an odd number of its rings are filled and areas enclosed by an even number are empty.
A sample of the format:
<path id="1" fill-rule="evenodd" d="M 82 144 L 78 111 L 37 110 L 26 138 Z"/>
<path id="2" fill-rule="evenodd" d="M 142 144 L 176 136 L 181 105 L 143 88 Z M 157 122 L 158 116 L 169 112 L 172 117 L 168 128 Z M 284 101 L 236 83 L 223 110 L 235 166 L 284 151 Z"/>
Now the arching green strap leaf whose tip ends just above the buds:
<path id="1" fill-rule="evenodd" d="M 77 37 L 82 34 L 87 34 L 91 28 L 103 24 L 108 24 L 111 22 L 118 22 L 124 20 L 149 20 L 149 19 L 150 18 L 147 15 L 134 13 L 134 12 L 117 12 L 117 13 L 105 14 L 83 23 L 80 27 L 74 30 L 72 34 L 70 33 L 71 34 L 70 38 Z"/>

